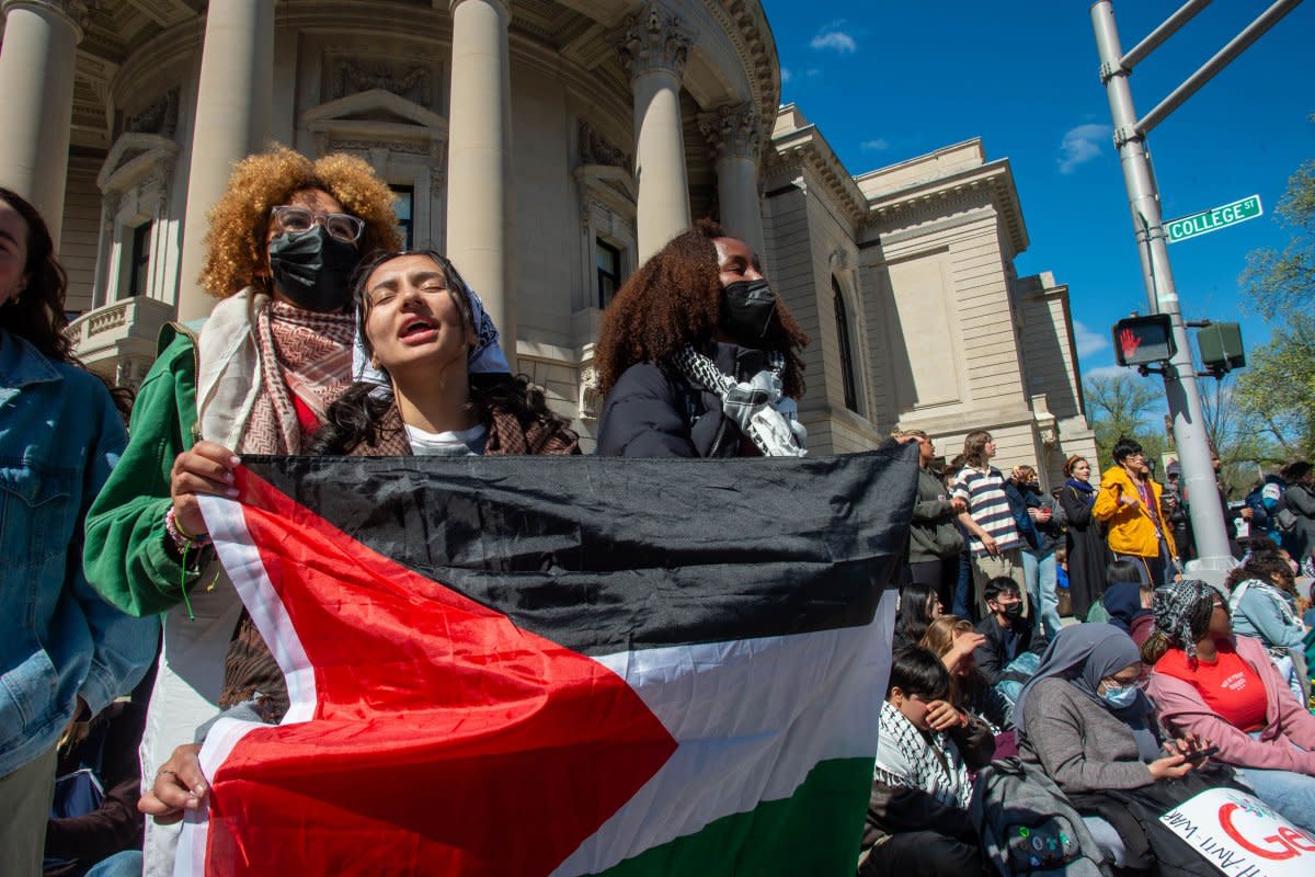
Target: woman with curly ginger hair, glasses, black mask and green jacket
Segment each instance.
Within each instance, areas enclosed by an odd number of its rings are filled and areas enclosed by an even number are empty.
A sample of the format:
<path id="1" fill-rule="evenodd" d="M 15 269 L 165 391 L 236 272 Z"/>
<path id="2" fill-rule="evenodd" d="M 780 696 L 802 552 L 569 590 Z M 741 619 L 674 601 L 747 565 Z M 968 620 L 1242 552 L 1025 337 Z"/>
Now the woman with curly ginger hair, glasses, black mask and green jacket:
<path id="1" fill-rule="evenodd" d="M 225 665 L 260 642 L 208 548 L 196 494 L 230 493 L 237 454 L 301 452 L 350 385 L 350 277 L 360 254 L 397 245 L 392 200 L 360 159 L 277 147 L 239 162 L 210 212 L 201 284 L 221 301 L 204 326 L 163 330 L 128 448 L 87 515 L 96 588 L 125 611 L 163 617 L 146 777 L 245 699 L 226 690 Z M 263 710 L 285 709 L 281 676 L 259 689 Z M 147 874 L 172 869 L 175 843 L 147 827 Z"/>

